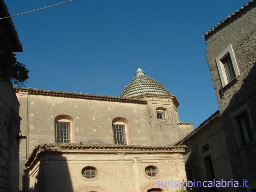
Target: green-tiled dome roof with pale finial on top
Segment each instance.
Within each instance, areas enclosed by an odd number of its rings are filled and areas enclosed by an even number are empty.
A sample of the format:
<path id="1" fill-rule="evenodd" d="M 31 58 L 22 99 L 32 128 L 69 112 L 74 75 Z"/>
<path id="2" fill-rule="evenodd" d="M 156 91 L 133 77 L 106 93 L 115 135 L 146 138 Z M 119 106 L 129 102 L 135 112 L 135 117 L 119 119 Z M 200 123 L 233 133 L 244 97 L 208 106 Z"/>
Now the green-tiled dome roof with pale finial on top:
<path id="1" fill-rule="evenodd" d="M 125 87 L 120 97 L 136 97 L 146 94 L 170 95 L 162 84 L 146 76 L 141 68 L 135 74 L 136 77 Z"/>

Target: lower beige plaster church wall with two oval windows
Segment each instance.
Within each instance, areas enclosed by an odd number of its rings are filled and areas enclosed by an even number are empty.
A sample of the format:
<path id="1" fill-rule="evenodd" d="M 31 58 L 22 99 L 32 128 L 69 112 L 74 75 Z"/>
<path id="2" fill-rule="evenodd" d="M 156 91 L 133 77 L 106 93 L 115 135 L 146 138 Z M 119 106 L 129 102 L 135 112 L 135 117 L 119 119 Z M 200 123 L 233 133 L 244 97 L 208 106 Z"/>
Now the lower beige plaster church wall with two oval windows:
<path id="1" fill-rule="evenodd" d="M 29 167 L 31 169 L 29 171 L 31 191 L 35 191 L 33 186 L 37 186 L 40 192 L 147 192 L 151 188 L 158 188 L 158 179 L 164 181 L 164 184 L 165 181 L 172 179 L 173 181 L 183 181 L 183 179 L 186 181 L 181 152 L 152 153 L 144 150 L 139 153 L 134 151 L 132 154 L 129 150 L 86 151 L 64 149 L 61 153 L 52 151 L 38 155 L 40 165 L 35 163 Z M 158 176 L 153 179 L 145 174 L 145 168 L 149 165 L 156 166 L 159 171 Z M 97 168 L 98 173 L 95 180 L 84 179 L 81 171 L 85 166 Z M 37 169 L 38 171 L 36 171 Z M 37 184 L 34 184 L 36 177 Z M 45 186 L 45 189 L 38 187 L 42 185 Z M 174 187 L 162 189 L 164 192 L 177 190 Z"/>

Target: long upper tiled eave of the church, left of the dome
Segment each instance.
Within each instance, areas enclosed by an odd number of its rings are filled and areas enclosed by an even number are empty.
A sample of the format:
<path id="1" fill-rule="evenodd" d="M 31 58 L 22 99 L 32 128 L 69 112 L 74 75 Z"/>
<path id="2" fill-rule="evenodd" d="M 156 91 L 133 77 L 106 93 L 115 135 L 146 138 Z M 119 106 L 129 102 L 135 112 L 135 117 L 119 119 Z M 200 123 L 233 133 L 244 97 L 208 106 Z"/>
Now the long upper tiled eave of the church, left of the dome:
<path id="1" fill-rule="evenodd" d="M 29 92 L 29 94 L 33 95 L 46 95 L 53 97 L 68 97 L 68 98 L 81 98 L 81 99 L 89 99 L 89 100 L 102 100 L 102 101 L 110 101 L 110 102 L 124 102 L 124 103 L 139 103 L 146 104 L 145 100 L 136 99 L 136 98 L 120 98 L 114 97 L 110 95 L 94 95 L 94 94 L 83 94 L 77 92 L 66 92 L 66 91 L 55 91 L 55 90 L 43 90 L 43 89 L 35 89 L 35 88 L 21 88 L 14 87 L 15 92 Z"/>

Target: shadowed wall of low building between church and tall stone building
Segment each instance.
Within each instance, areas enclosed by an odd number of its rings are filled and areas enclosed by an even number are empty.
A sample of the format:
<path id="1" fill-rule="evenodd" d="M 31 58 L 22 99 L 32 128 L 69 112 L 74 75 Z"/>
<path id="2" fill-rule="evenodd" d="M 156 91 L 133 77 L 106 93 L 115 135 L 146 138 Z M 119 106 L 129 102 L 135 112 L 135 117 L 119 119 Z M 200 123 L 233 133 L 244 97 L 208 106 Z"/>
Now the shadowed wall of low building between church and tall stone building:
<path id="1" fill-rule="evenodd" d="M 203 152 L 202 147 L 209 144 L 209 151 Z M 207 180 L 204 157 L 211 155 L 215 179 L 231 181 L 233 179 L 230 159 L 225 142 L 222 121 L 219 116 L 206 124 L 182 144 L 188 148 L 184 154 L 186 174 L 190 181 Z M 232 188 L 219 188 L 219 192 L 235 191 Z"/>

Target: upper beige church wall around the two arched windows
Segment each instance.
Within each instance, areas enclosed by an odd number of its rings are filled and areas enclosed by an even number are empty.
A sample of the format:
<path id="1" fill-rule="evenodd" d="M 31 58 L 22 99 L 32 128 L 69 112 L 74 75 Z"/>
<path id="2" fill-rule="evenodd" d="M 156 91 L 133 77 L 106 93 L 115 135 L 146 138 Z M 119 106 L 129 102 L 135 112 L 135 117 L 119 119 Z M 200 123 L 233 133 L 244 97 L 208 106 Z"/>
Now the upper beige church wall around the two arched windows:
<path id="1" fill-rule="evenodd" d="M 130 145 L 170 145 L 193 130 L 193 126 L 179 127 L 178 112 L 172 99 L 149 98 L 147 104 L 108 102 L 79 98 L 17 93 L 21 103 L 21 131 L 27 136 L 20 144 L 20 172 L 35 145 L 55 142 L 55 117 L 73 118 L 71 142 L 113 144 L 112 121 L 125 118 L 129 126 Z M 167 108 L 168 119 L 158 120 L 156 108 Z M 129 128 L 129 130 L 127 130 Z M 20 176 L 20 184 L 24 182 Z M 20 186 L 20 187 L 21 187 Z"/>

